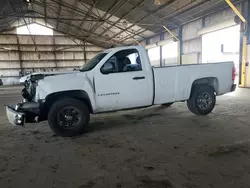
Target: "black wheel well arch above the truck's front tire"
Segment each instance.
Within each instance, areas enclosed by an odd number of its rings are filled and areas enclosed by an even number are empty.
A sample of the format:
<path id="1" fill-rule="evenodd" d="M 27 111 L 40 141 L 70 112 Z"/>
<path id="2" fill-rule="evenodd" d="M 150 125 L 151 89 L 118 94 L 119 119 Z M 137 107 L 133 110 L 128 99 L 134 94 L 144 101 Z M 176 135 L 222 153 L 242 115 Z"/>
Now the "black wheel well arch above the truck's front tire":
<path id="1" fill-rule="evenodd" d="M 63 99 L 63 98 L 74 98 L 74 99 L 78 99 L 82 102 L 84 102 L 89 111 L 91 113 L 93 113 L 93 108 L 89 99 L 88 94 L 85 91 L 81 91 L 81 90 L 74 90 L 74 91 L 62 91 L 62 92 L 56 92 L 56 93 L 52 93 L 50 95 L 48 95 L 46 97 L 45 103 L 43 105 L 43 114 L 41 114 L 41 120 L 46 120 L 47 116 L 48 116 L 48 112 L 51 108 L 51 106 L 58 100 Z"/>

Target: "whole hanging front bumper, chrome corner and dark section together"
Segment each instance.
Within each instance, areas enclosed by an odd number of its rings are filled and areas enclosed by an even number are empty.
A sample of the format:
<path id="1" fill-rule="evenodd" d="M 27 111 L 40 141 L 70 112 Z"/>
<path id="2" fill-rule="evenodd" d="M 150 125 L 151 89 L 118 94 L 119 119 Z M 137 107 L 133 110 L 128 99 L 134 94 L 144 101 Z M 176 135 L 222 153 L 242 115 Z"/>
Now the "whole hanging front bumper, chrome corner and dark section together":
<path id="1" fill-rule="evenodd" d="M 12 125 L 24 126 L 25 123 L 37 122 L 36 117 L 40 116 L 38 102 L 23 102 L 15 106 L 6 106 L 6 115 Z"/>

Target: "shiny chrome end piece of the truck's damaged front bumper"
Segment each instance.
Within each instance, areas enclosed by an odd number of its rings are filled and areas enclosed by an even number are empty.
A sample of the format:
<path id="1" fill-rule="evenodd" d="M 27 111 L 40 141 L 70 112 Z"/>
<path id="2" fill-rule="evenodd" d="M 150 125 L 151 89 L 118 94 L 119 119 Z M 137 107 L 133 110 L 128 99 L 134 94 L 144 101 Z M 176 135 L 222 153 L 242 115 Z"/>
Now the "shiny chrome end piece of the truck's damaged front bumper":
<path id="1" fill-rule="evenodd" d="M 12 107 L 6 106 L 6 115 L 12 125 L 24 126 L 26 121 L 25 113 L 17 112 Z"/>

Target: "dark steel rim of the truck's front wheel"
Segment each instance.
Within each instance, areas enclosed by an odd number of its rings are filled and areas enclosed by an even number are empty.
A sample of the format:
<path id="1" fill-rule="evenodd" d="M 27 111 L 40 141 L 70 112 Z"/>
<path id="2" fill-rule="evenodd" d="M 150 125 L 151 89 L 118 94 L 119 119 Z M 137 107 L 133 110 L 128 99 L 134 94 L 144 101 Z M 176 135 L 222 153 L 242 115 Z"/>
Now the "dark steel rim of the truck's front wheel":
<path id="1" fill-rule="evenodd" d="M 81 122 L 81 119 L 80 110 L 73 106 L 64 107 L 57 114 L 57 122 L 64 129 L 77 127 Z"/>

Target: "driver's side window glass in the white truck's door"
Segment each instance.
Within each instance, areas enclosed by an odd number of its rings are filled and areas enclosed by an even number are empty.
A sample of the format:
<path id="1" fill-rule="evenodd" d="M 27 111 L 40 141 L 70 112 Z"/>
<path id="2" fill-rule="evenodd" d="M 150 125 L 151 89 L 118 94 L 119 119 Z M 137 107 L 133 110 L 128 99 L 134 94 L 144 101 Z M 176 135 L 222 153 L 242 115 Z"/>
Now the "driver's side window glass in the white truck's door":
<path id="1" fill-rule="evenodd" d="M 103 74 L 141 71 L 141 59 L 136 49 L 121 50 L 115 53 L 101 67 Z"/>

